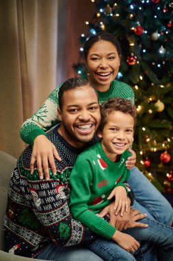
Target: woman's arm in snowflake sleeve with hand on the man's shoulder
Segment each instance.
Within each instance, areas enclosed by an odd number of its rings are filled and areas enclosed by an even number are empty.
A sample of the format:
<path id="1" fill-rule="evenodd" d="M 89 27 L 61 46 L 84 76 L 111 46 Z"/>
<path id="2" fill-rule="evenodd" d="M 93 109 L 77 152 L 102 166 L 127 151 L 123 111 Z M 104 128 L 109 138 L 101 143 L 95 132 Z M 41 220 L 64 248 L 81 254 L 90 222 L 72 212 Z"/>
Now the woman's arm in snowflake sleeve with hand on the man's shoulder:
<path id="1" fill-rule="evenodd" d="M 33 146 L 30 170 L 34 172 L 34 163 L 37 161 L 40 179 L 43 178 L 42 168 L 46 179 L 49 179 L 49 164 L 53 174 L 56 173 L 55 161 L 61 160 L 55 146 L 45 136 L 45 131 L 57 124 L 58 91 L 61 84 L 55 89 L 49 98 L 42 104 L 40 109 L 30 119 L 26 120 L 21 127 L 21 138 L 27 144 Z"/>

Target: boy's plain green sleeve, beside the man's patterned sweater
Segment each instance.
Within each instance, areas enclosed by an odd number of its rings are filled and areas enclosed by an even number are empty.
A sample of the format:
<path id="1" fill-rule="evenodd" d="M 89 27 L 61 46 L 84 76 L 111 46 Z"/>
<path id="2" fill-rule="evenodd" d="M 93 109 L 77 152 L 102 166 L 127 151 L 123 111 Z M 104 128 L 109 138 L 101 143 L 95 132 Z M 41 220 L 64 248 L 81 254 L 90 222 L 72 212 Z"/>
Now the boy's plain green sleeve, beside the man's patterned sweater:
<path id="1" fill-rule="evenodd" d="M 77 158 L 70 174 L 70 212 L 74 218 L 81 221 L 94 233 L 111 239 L 116 232 L 116 228 L 88 209 L 92 168 L 90 160 L 85 159 L 86 155 L 80 156 Z"/>

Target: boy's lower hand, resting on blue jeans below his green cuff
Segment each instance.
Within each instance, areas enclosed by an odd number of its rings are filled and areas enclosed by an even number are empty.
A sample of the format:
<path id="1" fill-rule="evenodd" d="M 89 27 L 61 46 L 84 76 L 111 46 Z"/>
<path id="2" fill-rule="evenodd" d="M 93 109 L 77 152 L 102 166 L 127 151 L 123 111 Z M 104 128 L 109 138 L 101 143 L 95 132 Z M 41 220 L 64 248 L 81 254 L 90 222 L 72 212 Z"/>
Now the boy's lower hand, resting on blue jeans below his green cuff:
<path id="1" fill-rule="evenodd" d="M 113 239 L 120 247 L 128 252 L 133 253 L 140 247 L 139 242 L 137 242 L 135 238 L 118 230 L 116 230 L 111 239 Z"/>

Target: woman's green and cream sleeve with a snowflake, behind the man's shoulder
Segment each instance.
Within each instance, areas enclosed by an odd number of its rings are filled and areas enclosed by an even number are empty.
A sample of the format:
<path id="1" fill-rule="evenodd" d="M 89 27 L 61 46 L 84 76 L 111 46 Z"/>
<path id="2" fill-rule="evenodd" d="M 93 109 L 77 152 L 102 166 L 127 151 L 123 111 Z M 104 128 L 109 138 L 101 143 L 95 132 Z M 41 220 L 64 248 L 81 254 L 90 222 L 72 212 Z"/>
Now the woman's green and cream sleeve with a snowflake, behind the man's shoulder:
<path id="1" fill-rule="evenodd" d="M 58 91 L 60 84 L 40 106 L 38 111 L 26 120 L 21 127 L 21 138 L 31 146 L 38 135 L 45 135 L 45 131 L 57 124 Z"/>

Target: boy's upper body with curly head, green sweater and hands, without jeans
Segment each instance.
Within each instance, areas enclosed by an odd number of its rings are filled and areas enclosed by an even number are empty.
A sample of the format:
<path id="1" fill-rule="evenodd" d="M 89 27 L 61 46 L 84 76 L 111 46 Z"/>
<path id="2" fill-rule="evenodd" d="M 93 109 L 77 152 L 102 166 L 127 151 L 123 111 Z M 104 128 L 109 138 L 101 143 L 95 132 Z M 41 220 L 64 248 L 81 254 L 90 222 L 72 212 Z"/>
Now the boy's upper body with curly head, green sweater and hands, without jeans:
<path id="1" fill-rule="evenodd" d="M 113 194 L 116 213 L 127 211 L 128 188 L 124 181 L 129 179 L 130 172 L 125 161 L 130 155 L 127 149 L 133 142 L 135 106 L 122 98 L 109 99 L 101 106 L 101 119 L 98 130 L 101 142 L 81 153 L 72 169 L 70 211 L 96 234 L 111 238 L 123 249 L 134 252 L 139 242 L 96 214 L 109 205 Z"/>

